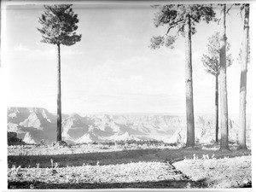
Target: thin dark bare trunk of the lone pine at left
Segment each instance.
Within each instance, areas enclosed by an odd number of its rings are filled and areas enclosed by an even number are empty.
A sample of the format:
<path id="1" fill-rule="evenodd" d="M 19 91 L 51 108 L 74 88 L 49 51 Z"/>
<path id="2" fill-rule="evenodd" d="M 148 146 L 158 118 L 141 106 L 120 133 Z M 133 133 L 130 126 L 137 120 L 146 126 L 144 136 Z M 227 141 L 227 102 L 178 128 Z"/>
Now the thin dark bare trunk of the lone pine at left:
<path id="1" fill-rule="evenodd" d="M 61 44 L 58 46 L 58 74 L 57 74 L 57 142 L 61 141 Z"/>

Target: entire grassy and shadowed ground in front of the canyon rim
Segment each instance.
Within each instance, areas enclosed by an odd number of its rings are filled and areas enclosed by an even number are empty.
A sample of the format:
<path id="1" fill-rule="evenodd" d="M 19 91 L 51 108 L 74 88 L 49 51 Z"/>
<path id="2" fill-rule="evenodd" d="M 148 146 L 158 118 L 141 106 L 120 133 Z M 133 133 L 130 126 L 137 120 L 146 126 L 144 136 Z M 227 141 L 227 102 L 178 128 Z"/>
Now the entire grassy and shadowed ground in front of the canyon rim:
<path id="1" fill-rule="evenodd" d="M 251 151 L 217 148 L 215 144 L 9 147 L 9 189 L 251 187 Z"/>

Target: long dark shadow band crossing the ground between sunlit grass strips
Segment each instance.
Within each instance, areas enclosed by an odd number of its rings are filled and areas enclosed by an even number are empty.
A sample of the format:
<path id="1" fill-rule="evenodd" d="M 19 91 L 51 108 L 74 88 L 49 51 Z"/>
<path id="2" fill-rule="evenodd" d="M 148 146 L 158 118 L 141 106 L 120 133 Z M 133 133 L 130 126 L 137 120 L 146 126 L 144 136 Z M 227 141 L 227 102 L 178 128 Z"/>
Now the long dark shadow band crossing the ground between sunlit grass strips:
<path id="1" fill-rule="evenodd" d="M 202 158 L 203 154 L 208 154 L 211 158 L 235 157 L 250 155 L 251 151 L 230 150 L 222 152 L 219 150 L 206 150 L 198 148 L 183 149 L 137 149 L 113 152 L 88 153 L 88 154 L 55 154 L 55 155 L 9 155 L 8 164 L 11 166 L 46 168 L 51 166 L 51 160 L 58 163 L 59 167 L 82 166 L 88 164 L 95 165 L 117 165 L 139 161 L 160 161 L 175 162 L 184 158 L 191 159 L 194 156 Z"/>

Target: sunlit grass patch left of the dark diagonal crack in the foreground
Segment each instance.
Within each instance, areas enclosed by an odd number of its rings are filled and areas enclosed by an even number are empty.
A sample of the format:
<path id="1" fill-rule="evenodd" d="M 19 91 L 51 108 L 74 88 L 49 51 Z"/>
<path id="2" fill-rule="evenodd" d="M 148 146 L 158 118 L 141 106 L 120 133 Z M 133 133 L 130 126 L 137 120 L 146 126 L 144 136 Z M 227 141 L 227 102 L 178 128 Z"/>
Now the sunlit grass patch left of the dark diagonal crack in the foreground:
<path id="1" fill-rule="evenodd" d="M 137 162 L 109 166 L 69 166 L 52 168 L 9 168 L 9 182 L 35 183 L 134 183 L 182 180 L 167 163 Z"/>

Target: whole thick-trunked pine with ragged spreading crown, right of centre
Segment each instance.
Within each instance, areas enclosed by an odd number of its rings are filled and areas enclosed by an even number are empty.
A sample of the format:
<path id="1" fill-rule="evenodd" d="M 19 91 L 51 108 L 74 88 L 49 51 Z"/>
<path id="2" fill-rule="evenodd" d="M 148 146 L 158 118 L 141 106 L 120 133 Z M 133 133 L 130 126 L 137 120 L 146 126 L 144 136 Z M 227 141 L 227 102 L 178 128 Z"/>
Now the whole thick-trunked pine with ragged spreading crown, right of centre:
<path id="1" fill-rule="evenodd" d="M 185 38 L 185 85 L 186 85 L 186 116 L 187 116 L 187 147 L 195 146 L 195 119 L 193 102 L 192 50 L 191 36 L 195 34 L 195 24 L 201 20 L 207 23 L 215 17 L 211 5 L 204 4 L 170 4 L 156 5 L 158 12 L 154 15 L 154 25 L 166 26 L 166 33 L 151 38 L 151 48 L 157 49 L 165 45 L 173 49 L 179 34 Z M 170 35 L 172 28 L 177 29 L 176 35 Z"/>

